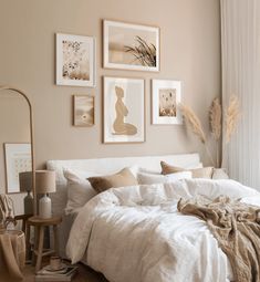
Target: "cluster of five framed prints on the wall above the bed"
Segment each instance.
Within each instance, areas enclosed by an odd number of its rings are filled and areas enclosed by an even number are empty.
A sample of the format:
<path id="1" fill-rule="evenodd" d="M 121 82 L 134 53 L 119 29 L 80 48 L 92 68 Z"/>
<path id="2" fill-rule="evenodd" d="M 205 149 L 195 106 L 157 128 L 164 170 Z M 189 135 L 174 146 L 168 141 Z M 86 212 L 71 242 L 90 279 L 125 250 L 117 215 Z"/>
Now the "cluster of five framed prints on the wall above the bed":
<path id="1" fill-rule="evenodd" d="M 102 140 L 104 144 L 143 143 L 146 136 L 147 82 L 139 73 L 160 71 L 160 29 L 106 19 L 102 27 L 103 67 L 106 70 L 102 80 Z M 122 70 L 122 75 L 111 76 L 111 70 Z M 125 75 L 127 72 L 136 72 L 137 75 Z M 56 33 L 56 85 L 95 87 L 96 81 L 96 39 Z M 150 82 L 150 124 L 181 124 L 178 108 L 181 82 Z M 72 125 L 93 126 L 95 97 L 77 94 L 72 100 Z"/>

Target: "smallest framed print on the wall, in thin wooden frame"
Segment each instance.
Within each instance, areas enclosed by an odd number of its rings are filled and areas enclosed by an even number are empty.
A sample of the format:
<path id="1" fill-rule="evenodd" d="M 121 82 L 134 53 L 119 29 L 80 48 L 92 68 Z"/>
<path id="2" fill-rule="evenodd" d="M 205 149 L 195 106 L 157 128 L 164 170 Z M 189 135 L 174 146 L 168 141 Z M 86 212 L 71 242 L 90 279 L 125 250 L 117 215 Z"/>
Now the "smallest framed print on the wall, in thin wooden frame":
<path id="1" fill-rule="evenodd" d="M 73 125 L 93 126 L 95 100 L 91 95 L 73 95 Z"/>

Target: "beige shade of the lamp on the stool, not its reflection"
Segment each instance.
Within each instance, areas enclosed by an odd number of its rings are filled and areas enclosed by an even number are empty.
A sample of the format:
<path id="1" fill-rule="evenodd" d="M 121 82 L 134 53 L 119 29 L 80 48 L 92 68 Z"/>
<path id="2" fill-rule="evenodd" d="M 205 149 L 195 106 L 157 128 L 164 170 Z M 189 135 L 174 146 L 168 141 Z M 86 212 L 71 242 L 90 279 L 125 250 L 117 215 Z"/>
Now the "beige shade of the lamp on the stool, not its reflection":
<path id="1" fill-rule="evenodd" d="M 37 170 L 37 194 L 55 192 L 56 181 L 55 171 L 52 170 Z"/>

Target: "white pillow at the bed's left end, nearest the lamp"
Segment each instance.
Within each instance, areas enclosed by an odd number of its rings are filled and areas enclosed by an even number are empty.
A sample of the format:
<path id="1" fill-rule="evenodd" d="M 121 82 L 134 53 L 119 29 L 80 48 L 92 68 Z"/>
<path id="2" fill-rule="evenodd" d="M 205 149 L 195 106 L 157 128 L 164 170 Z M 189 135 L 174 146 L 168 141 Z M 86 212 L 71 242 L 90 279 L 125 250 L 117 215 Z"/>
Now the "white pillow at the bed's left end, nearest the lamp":
<path id="1" fill-rule="evenodd" d="M 72 170 L 69 168 L 63 168 L 63 175 L 67 180 L 65 213 L 70 215 L 77 212 L 80 208 L 97 195 L 86 178 L 100 175 L 92 171 Z"/>

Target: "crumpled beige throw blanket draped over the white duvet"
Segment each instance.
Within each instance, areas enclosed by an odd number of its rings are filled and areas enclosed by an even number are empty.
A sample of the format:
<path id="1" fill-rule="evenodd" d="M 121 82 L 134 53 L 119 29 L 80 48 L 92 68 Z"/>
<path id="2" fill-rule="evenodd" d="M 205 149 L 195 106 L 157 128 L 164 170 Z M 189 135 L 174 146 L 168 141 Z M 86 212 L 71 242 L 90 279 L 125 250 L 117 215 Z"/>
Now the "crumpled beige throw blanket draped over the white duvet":
<path id="1" fill-rule="evenodd" d="M 260 208 L 220 196 L 178 202 L 184 215 L 205 220 L 227 254 L 236 282 L 260 282 Z"/>

